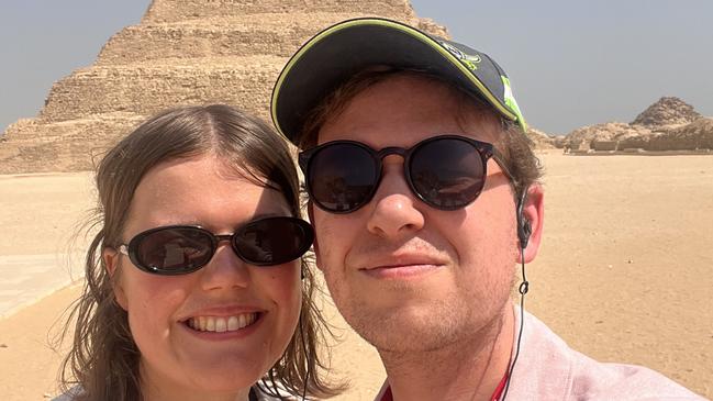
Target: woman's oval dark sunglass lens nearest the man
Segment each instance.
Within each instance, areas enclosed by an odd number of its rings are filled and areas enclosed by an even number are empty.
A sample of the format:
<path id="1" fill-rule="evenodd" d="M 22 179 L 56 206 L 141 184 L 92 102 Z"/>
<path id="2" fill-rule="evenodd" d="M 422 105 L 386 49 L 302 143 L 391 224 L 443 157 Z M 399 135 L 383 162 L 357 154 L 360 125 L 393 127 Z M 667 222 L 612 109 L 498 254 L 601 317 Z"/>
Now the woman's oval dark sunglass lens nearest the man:
<path id="1" fill-rule="evenodd" d="M 296 218 L 254 221 L 236 233 L 233 246 L 246 261 L 271 266 L 294 260 L 312 246 L 312 226 Z"/>

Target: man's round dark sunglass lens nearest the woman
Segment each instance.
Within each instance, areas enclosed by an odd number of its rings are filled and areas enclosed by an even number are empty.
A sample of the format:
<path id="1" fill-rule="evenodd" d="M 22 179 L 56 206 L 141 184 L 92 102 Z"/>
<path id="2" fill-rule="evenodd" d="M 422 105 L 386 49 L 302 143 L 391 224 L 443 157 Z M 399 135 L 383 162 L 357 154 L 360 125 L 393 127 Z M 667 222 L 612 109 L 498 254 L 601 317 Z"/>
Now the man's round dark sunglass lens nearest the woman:
<path id="1" fill-rule="evenodd" d="M 312 156 L 309 188 L 322 209 L 348 212 L 369 200 L 378 177 L 369 152 L 354 144 L 326 146 Z"/>

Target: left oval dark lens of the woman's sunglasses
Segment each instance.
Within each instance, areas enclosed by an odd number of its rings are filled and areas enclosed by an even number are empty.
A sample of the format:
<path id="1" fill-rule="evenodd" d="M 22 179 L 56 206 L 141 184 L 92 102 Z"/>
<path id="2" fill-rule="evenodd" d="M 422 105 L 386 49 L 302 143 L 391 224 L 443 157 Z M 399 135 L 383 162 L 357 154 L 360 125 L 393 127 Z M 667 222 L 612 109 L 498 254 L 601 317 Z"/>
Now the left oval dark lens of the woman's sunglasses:
<path id="1" fill-rule="evenodd" d="M 208 233 L 191 227 L 167 227 L 144 236 L 136 248 L 143 267 L 164 272 L 194 270 L 208 264 L 212 252 Z"/>

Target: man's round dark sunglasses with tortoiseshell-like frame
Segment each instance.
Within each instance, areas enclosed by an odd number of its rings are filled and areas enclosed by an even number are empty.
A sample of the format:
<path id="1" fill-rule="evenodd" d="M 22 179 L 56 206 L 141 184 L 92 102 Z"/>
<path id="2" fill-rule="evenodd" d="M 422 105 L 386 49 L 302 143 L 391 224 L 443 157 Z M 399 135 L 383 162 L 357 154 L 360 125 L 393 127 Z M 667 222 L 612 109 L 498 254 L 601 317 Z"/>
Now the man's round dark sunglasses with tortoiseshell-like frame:
<path id="1" fill-rule="evenodd" d="M 486 183 L 491 157 L 510 174 L 492 144 L 460 135 L 438 135 L 410 148 L 380 151 L 356 141 L 333 141 L 301 152 L 299 164 L 310 199 L 332 213 L 349 213 L 369 203 L 381 181 L 382 159 L 403 157 L 409 187 L 426 204 L 456 210 L 475 201 Z"/>

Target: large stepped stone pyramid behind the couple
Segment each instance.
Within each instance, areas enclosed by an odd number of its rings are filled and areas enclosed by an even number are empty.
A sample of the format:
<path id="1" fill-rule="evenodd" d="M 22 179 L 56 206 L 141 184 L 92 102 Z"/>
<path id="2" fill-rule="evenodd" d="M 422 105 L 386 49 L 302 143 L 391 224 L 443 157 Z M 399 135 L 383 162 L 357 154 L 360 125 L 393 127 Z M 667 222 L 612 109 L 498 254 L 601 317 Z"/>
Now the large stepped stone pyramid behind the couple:
<path id="1" fill-rule="evenodd" d="M 148 115 L 222 102 L 269 120 L 282 66 L 313 34 L 356 16 L 386 16 L 448 37 L 408 0 L 154 0 L 92 66 L 56 82 L 34 119 L 0 137 L 0 174 L 93 168 Z"/>

